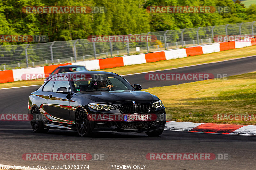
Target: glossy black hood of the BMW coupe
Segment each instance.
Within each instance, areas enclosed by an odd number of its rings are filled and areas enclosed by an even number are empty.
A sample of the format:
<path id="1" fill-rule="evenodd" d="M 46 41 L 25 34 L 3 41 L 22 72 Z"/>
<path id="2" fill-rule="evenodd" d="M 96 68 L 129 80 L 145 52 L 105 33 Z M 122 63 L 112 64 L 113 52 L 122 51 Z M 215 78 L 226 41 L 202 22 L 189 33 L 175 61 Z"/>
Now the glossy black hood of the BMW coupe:
<path id="1" fill-rule="evenodd" d="M 150 103 L 159 98 L 144 91 L 136 90 L 116 90 L 116 91 L 96 91 L 96 92 L 81 92 L 76 95 L 89 98 L 98 103 L 127 103 L 125 101 L 136 101 L 139 103 Z"/>

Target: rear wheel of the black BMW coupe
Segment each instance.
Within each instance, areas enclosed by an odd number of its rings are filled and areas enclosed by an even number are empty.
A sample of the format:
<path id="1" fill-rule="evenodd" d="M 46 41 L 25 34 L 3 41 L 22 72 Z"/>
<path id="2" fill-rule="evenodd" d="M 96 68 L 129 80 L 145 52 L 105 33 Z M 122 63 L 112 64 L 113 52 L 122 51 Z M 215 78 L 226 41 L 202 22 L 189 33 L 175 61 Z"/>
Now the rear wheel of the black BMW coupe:
<path id="1" fill-rule="evenodd" d="M 49 131 L 49 129 L 44 129 L 44 124 L 43 124 L 42 120 L 36 120 L 37 116 L 39 116 L 39 117 L 41 116 L 38 107 L 33 107 L 31 110 L 31 114 L 32 114 L 32 116 L 31 116 L 32 119 L 30 120 L 30 124 L 31 124 L 33 131 L 35 133 L 47 133 Z"/>

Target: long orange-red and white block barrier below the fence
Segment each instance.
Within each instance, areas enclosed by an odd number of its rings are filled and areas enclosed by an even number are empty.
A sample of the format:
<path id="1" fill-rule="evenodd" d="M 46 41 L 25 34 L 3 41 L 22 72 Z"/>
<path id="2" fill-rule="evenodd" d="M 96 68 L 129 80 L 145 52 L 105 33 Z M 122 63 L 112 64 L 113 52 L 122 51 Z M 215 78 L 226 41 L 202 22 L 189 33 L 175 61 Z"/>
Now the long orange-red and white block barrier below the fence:
<path id="1" fill-rule="evenodd" d="M 122 67 L 125 65 L 150 63 L 150 62 L 156 62 L 160 60 L 184 58 L 188 56 L 209 54 L 213 52 L 219 52 L 219 51 L 225 51 L 225 50 L 230 50 L 235 48 L 243 48 L 243 47 L 256 45 L 256 38 L 251 38 L 250 40 L 251 41 L 244 41 L 244 42 L 240 42 L 241 40 L 220 42 L 220 43 L 213 43 L 209 45 L 174 49 L 174 50 L 165 50 L 165 51 L 158 51 L 154 53 L 130 55 L 130 56 L 124 56 L 124 57 L 113 57 L 113 58 L 87 60 L 87 61 L 49 65 L 49 66 L 34 67 L 34 68 L 0 71 L 0 77 L 1 77 L 0 83 L 22 80 L 21 78 L 22 74 L 49 74 L 54 69 L 56 69 L 61 65 L 84 65 L 87 68 L 87 70 L 99 70 L 99 69 L 106 69 L 106 68 L 113 68 L 113 67 Z"/>

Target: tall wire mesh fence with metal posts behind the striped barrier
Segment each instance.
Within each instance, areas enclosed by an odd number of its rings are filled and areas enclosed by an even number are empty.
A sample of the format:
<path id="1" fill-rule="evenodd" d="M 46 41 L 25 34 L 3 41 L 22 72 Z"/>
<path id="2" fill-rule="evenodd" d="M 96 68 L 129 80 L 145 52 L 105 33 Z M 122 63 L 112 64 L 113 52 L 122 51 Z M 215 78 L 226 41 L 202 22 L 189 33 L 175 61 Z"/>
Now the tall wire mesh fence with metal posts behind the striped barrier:
<path id="1" fill-rule="evenodd" d="M 40 44 L 0 46 L 0 70 L 42 66 L 52 63 L 69 63 L 96 58 L 132 55 L 166 49 L 191 47 L 214 42 L 216 35 L 254 35 L 255 21 L 148 32 L 155 42 L 90 42 L 88 39 L 54 41 Z M 136 51 L 140 47 L 140 51 Z M 49 62 L 50 61 L 50 62 Z"/>

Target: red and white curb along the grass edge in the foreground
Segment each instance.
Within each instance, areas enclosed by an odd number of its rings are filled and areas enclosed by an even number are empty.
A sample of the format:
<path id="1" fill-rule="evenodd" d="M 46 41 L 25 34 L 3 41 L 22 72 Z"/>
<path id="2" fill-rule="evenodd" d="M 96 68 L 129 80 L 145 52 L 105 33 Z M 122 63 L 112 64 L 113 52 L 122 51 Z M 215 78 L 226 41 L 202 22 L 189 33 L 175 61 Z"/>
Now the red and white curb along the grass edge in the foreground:
<path id="1" fill-rule="evenodd" d="M 233 124 L 168 121 L 166 122 L 164 130 L 256 136 L 256 126 L 254 125 L 233 125 Z"/>

